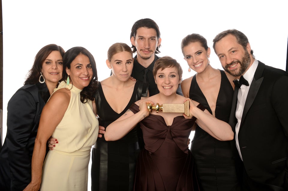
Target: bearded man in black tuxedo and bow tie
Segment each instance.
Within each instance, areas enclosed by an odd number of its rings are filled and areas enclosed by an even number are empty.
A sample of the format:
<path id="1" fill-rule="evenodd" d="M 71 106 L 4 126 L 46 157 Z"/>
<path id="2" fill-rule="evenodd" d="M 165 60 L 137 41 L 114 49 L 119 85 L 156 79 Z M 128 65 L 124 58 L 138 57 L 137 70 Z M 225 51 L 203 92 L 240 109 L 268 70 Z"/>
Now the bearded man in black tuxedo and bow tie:
<path id="1" fill-rule="evenodd" d="M 213 43 L 224 70 L 237 78 L 229 124 L 243 190 L 288 190 L 288 73 L 256 60 L 238 30 L 219 33 Z"/>

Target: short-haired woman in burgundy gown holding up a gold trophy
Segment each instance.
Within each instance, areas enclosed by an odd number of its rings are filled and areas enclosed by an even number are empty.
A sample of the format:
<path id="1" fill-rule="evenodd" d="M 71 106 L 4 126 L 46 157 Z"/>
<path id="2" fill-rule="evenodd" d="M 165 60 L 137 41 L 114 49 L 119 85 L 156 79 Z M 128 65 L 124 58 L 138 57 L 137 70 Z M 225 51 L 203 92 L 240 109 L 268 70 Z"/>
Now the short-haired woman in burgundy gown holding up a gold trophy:
<path id="1" fill-rule="evenodd" d="M 176 94 L 181 83 L 182 68 L 175 59 L 169 56 L 158 59 L 153 74 L 160 93 L 132 104 L 106 128 L 105 139 L 121 139 L 140 123 L 145 149 L 141 150 L 137 160 L 134 190 L 200 190 L 193 157 L 186 145 L 195 121 L 219 140 L 232 140 L 232 129 L 229 124 L 209 114 L 200 104 L 196 107 L 197 102 Z M 154 110 L 149 115 L 146 105 L 179 104 L 185 101 L 190 104 L 189 117 L 182 113 Z"/>

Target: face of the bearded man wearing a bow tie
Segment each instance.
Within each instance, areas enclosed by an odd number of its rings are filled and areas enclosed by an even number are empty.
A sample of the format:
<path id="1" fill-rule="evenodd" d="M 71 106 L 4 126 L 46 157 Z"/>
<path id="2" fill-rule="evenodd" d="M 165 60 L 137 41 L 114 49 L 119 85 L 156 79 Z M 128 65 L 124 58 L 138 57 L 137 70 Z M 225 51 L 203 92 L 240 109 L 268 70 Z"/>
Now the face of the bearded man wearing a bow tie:
<path id="1" fill-rule="evenodd" d="M 237 42 L 235 36 L 231 34 L 215 43 L 215 52 L 223 69 L 237 78 L 240 78 L 253 63 L 251 62 L 252 56 L 250 51 L 251 47 L 249 43 L 247 43 L 245 50 Z"/>

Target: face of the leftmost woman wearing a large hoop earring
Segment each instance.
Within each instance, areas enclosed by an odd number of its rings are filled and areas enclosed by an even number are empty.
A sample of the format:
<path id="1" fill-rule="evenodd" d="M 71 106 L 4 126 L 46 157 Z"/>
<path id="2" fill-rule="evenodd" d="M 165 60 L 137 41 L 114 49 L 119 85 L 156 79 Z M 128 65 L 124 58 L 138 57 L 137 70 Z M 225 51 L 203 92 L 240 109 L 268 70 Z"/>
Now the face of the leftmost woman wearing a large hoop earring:
<path id="1" fill-rule="evenodd" d="M 46 84 L 56 86 L 62 78 L 63 60 L 59 51 L 52 51 L 42 63 L 41 72 Z"/>

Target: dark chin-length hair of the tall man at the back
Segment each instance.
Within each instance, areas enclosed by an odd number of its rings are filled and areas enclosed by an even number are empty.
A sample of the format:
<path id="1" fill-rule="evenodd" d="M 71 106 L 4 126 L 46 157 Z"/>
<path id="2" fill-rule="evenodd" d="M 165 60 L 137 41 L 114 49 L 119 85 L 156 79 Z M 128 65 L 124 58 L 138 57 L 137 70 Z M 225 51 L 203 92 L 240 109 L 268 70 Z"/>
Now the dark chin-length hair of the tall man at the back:
<path id="1" fill-rule="evenodd" d="M 160 30 L 159 30 L 158 25 L 156 24 L 155 21 L 153 21 L 152 19 L 148 19 L 148 18 L 140 19 L 140 20 L 134 22 L 134 25 L 131 28 L 130 39 L 132 38 L 132 36 L 134 38 L 136 37 L 137 30 L 138 30 L 138 28 L 141 28 L 141 27 L 155 29 L 156 33 L 157 33 L 157 39 L 160 39 Z M 160 47 L 161 47 L 161 45 L 159 45 L 156 48 L 155 54 L 160 53 L 160 51 L 159 51 Z M 136 47 L 134 45 L 132 45 L 131 48 L 132 48 L 133 53 L 137 51 L 137 49 L 136 49 Z"/>

